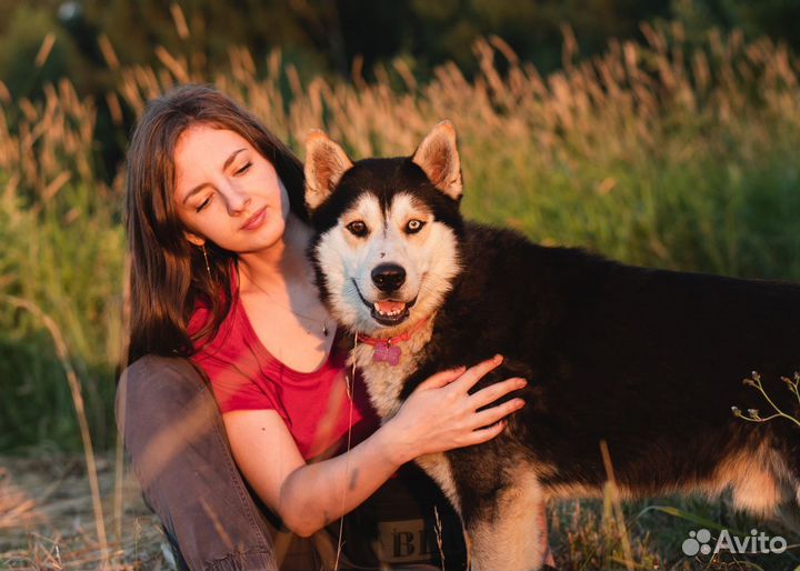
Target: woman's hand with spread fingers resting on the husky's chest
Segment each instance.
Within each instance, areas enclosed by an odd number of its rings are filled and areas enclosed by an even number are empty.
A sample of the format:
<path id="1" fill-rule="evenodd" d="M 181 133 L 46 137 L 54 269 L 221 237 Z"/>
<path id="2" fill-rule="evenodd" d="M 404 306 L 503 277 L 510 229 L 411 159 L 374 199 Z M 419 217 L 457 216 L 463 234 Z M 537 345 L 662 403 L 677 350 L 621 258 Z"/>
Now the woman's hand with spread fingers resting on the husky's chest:
<path id="1" fill-rule="evenodd" d="M 469 390 L 502 362 L 500 355 L 469 369 L 460 367 L 434 374 L 420 384 L 381 429 L 386 445 L 398 463 L 422 454 L 480 444 L 497 437 L 502 420 L 524 405 L 522 399 L 478 411 L 527 384 L 512 378 L 469 394 Z"/>

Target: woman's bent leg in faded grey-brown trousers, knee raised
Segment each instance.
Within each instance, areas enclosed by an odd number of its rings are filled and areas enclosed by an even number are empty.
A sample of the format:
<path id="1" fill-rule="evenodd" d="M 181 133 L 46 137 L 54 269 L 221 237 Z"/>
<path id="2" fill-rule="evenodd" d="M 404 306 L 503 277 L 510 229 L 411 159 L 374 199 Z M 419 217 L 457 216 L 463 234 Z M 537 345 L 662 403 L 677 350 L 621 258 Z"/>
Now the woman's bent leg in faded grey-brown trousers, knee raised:
<path id="1" fill-rule="evenodd" d="M 217 403 L 189 361 L 133 363 L 118 387 L 117 415 L 144 497 L 191 569 L 273 568 Z"/>

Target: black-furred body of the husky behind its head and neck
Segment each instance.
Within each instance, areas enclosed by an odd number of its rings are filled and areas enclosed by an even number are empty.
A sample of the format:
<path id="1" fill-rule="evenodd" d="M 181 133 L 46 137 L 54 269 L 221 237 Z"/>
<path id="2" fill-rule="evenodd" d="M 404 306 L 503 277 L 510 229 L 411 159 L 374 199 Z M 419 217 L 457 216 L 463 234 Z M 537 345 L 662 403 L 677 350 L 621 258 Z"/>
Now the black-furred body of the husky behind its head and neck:
<path id="1" fill-rule="evenodd" d="M 602 484 L 601 440 L 637 494 L 713 480 L 726 458 L 767 465 L 767 442 L 800 470 L 793 424 L 731 413 L 768 407 L 742 382 L 758 371 L 798 414 L 780 378 L 800 370 L 800 287 L 629 267 L 473 224 L 461 256 L 434 342 L 404 390 L 464 355 L 501 352 L 507 365 L 493 379 L 529 379 L 516 438 L 559 467 L 543 483 Z"/>

